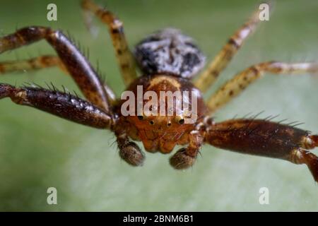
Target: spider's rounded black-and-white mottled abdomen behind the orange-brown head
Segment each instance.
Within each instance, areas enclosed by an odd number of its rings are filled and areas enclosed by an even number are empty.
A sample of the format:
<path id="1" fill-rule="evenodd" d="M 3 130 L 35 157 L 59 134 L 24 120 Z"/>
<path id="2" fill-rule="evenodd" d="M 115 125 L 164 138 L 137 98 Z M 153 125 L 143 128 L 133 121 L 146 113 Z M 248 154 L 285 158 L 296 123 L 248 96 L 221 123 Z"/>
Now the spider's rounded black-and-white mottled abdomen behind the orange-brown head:
<path id="1" fill-rule="evenodd" d="M 173 28 L 149 35 L 136 45 L 134 54 L 147 75 L 166 73 L 192 78 L 205 63 L 194 40 Z"/>

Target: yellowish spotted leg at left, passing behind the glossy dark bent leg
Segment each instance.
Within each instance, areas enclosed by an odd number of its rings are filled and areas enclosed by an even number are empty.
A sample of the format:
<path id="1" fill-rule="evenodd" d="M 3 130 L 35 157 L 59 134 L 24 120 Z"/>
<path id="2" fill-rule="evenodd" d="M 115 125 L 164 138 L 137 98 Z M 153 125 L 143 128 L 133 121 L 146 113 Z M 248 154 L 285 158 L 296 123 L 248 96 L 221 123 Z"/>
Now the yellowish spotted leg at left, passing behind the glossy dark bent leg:
<path id="1" fill-rule="evenodd" d="M 35 71 L 40 69 L 47 69 L 54 66 L 58 66 L 59 69 L 61 69 L 61 71 L 64 71 L 65 73 L 69 74 L 69 71 L 67 71 L 66 67 L 64 66 L 61 59 L 59 59 L 59 57 L 43 55 L 32 59 L 2 61 L 0 62 L 0 76 L 6 73 Z M 107 94 L 107 100 L 109 100 L 110 104 L 113 105 L 116 101 L 116 96 L 114 95 L 114 92 L 108 85 L 103 85 Z"/>

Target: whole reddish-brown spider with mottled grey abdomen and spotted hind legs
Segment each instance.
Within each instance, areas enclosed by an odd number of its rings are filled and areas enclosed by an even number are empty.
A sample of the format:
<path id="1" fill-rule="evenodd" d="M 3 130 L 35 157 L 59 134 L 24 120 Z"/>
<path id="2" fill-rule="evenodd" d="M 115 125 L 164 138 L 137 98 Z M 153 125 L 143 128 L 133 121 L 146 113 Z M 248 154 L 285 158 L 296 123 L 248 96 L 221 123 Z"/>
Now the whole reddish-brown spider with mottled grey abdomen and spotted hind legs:
<path id="1" fill-rule="evenodd" d="M 97 129 L 110 129 L 117 138 L 120 157 L 132 166 L 142 165 L 145 155 L 131 140 L 141 141 L 151 153 L 171 153 L 175 145 L 182 145 L 184 148 L 170 157 L 170 165 L 175 169 L 194 165 L 199 149 L 208 143 L 225 150 L 305 164 L 318 182 L 318 157 L 309 151 L 318 146 L 318 135 L 270 119 L 243 117 L 220 122 L 213 119 L 218 109 L 262 78 L 264 73 L 317 73 L 317 63 L 266 61 L 256 64 L 237 73 L 206 103 L 203 100 L 201 93 L 213 85 L 259 24 L 259 10 L 230 37 L 208 68 L 192 83 L 194 76 L 204 67 L 205 57 L 191 37 L 176 29 L 164 29 L 141 40 L 131 52 L 123 23 L 111 11 L 90 0 L 83 0 L 81 6 L 86 19 L 95 15 L 107 25 L 126 90 L 136 93 L 137 87 L 143 85 L 143 92 L 194 91 L 192 95 L 196 95 L 198 109 L 196 121 L 185 124 L 187 115 L 184 112 L 172 116 L 124 116 L 121 112 L 123 101 L 116 99 L 75 44 L 61 31 L 40 26 L 22 28 L 1 37 L 0 53 L 44 39 L 57 56 L 1 62 L 0 73 L 59 66 L 69 73 L 87 100 L 55 88 L 17 88 L 5 83 L 0 83 L 0 99 L 10 97 L 18 105 L 34 107 Z M 142 76 L 137 76 L 136 65 Z M 177 109 L 173 108 L 172 112 L 176 113 Z"/>

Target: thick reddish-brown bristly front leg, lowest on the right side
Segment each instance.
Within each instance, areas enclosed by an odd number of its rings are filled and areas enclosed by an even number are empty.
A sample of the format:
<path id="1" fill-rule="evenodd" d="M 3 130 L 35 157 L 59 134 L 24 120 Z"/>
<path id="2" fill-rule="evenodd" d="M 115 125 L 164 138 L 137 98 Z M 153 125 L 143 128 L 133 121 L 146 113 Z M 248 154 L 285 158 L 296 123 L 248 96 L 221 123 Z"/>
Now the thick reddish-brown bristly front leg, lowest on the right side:
<path id="1" fill-rule="evenodd" d="M 293 126 L 258 119 L 232 119 L 216 123 L 206 132 L 206 143 L 249 155 L 280 158 L 306 164 L 318 182 L 318 135 Z"/>

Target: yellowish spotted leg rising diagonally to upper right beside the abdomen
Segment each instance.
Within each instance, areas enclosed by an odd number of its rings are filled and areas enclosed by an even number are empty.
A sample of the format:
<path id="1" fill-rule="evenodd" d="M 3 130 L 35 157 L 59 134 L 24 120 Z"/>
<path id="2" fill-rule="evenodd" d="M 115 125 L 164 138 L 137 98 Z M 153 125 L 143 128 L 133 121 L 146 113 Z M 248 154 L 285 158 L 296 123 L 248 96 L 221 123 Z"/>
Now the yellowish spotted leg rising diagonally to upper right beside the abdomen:
<path id="1" fill-rule="evenodd" d="M 240 49 L 247 37 L 257 28 L 257 25 L 260 22 L 260 12 L 260 10 L 255 11 L 251 18 L 249 18 L 249 20 L 247 20 L 247 22 L 230 37 L 225 46 L 208 65 L 208 69 L 202 72 L 199 78 L 194 82 L 194 85 L 196 85 L 196 87 L 202 92 L 206 92 L 206 90 L 213 85 L 220 72 L 228 66 L 232 57 L 234 57 L 237 50 Z"/>

